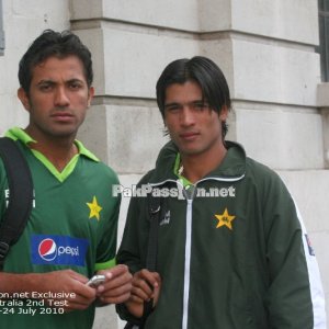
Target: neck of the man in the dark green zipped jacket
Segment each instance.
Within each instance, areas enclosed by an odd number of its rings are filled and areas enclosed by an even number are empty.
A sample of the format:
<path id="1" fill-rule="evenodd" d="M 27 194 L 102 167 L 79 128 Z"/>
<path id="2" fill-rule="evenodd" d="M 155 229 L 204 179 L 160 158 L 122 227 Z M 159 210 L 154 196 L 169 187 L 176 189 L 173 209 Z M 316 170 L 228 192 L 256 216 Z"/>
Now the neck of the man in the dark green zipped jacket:
<path id="1" fill-rule="evenodd" d="M 192 183 L 200 181 L 222 163 L 226 152 L 227 150 L 222 144 L 216 151 L 212 152 L 196 155 L 181 154 L 181 161 L 183 166 L 182 175 Z"/>

